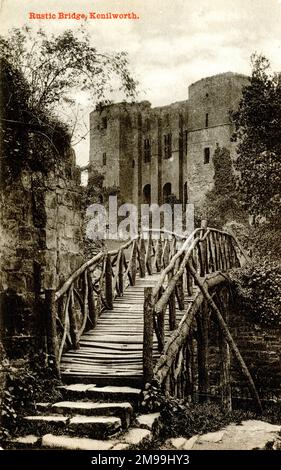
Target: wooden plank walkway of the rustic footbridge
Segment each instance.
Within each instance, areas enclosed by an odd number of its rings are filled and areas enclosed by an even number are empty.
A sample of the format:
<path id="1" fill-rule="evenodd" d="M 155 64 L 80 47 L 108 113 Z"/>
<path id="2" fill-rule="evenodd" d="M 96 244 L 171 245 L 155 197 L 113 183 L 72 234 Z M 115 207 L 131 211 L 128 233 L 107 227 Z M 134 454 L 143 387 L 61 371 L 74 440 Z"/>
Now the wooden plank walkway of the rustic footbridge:
<path id="1" fill-rule="evenodd" d="M 96 328 L 82 336 L 80 349 L 63 355 L 64 381 L 141 384 L 144 288 L 154 287 L 159 275 L 137 278 L 135 286 L 129 286 L 123 297 L 116 298 L 113 310 L 102 312 Z M 177 311 L 178 320 L 182 314 Z M 155 358 L 159 357 L 156 337 L 154 352 Z"/>

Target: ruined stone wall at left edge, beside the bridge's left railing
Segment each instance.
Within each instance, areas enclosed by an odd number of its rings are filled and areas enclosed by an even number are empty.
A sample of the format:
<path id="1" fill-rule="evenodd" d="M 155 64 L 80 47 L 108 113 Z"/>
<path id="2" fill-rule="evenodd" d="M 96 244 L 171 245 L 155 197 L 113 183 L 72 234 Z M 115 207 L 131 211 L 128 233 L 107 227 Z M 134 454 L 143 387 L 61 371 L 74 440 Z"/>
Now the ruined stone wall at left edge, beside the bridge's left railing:
<path id="1" fill-rule="evenodd" d="M 1 336 L 10 355 L 36 346 L 45 289 L 83 261 L 82 188 L 74 155 L 43 175 L 24 171 L 1 190 Z"/>

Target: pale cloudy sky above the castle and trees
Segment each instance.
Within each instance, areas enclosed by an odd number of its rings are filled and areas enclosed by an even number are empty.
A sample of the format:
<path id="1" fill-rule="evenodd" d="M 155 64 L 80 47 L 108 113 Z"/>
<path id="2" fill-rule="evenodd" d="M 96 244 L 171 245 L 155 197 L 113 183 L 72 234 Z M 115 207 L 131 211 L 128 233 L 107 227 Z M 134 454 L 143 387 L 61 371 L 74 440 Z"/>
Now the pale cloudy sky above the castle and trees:
<path id="1" fill-rule="evenodd" d="M 50 32 L 77 20 L 29 20 L 29 12 L 135 12 L 138 20 L 84 20 L 93 44 L 127 51 L 138 100 L 153 106 L 188 98 L 188 86 L 220 72 L 250 74 L 250 56 L 263 53 L 281 70 L 281 0 L 0 0 L 1 32 L 24 24 Z M 119 98 L 118 96 L 116 97 Z M 77 97 L 83 103 L 83 97 Z M 120 96 L 119 99 L 122 99 Z M 85 101 L 85 119 L 94 104 Z M 88 161 L 88 139 L 75 148 Z"/>

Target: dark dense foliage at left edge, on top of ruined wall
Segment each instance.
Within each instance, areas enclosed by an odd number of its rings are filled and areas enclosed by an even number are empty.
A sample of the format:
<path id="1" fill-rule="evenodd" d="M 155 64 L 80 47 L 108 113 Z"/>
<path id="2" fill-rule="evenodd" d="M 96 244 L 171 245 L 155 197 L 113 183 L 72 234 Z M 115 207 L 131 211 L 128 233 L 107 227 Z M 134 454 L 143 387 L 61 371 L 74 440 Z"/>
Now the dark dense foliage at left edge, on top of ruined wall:
<path id="1" fill-rule="evenodd" d="M 30 107 L 30 88 L 22 73 L 1 61 L 1 185 L 22 169 L 48 171 L 70 145 L 67 127 L 42 109 Z"/>

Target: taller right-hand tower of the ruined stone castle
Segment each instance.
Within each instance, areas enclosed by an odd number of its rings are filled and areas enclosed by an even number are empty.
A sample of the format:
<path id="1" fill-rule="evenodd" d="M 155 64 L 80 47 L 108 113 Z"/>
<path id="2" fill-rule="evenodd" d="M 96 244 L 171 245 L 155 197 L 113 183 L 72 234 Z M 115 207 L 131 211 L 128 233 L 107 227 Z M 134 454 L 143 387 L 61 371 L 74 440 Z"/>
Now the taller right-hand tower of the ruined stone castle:
<path id="1" fill-rule="evenodd" d="M 235 158 L 235 144 L 231 142 L 233 127 L 230 112 L 237 109 L 242 88 L 248 78 L 231 72 L 204 78 L 189 87 L 187 185 L 189 202 L 199 204 L 212 189 L 214 166 L 212 157 L 216 146 L 230 150 Z M 204 163 L 204 152 L 210 151 L 209 163 Z"/>

